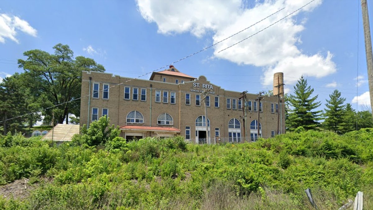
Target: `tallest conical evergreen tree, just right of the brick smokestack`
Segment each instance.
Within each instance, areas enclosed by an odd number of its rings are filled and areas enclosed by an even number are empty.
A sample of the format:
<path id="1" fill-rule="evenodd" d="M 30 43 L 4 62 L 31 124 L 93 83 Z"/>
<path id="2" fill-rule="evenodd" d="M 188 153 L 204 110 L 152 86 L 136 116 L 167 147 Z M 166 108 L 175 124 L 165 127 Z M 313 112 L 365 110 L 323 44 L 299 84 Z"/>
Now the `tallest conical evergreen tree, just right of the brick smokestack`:
<path id="1" fill-rule="evenodd" d="M 314 89 L 308 86 L 307 80 L 301 76 L 298 83 L 294 86 L 294 95 L 288 97 L 289 107 L 286 127 L 288 130 L 294 130 L 303 126 L 305 130 L 316 129 L 321 120 L 322 110 L 315 109 L 321 105 L 316 102 L 317 96 L 311 97 Z"/>

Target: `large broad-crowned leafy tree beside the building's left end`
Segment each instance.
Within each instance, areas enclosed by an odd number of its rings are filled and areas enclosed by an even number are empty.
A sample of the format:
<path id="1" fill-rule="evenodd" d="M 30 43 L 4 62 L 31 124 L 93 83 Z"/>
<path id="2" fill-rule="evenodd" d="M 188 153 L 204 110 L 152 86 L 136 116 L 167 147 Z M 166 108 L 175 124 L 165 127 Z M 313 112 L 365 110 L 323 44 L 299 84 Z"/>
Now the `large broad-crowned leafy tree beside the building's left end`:
<path id="1" fill-rule="evenodd" d="M 19 68 L 25 70 L 23 83 L 29 87 L 35 99 L 42 98 L 40 107 L 44 121 L 50 123 L 54 112 L 54 122 L 66 124 L 68 115 L 80 115 L 81 75 L 84 71 L 104 72 L 105 68 L 91 58 L 77 56 L 68 45 L 57 44 L 54 54 L 43 50 L 29 50 L 23 53 L 26 60 L 18 59 Z M 55 106 L 53 109 L 46 109 Z"/>

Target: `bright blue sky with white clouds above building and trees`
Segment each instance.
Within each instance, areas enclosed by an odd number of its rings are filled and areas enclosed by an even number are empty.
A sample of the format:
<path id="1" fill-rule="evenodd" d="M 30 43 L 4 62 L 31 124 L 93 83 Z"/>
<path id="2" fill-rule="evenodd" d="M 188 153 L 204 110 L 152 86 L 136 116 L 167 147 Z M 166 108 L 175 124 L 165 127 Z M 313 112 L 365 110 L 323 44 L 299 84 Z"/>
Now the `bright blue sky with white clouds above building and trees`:
<path id="1" fill-rule="evenodd" d="M 52 53 L 57 43 L 68 44 L 75 56 L 93 58 L 106 72 L 137 77 L 285 7 L 175 67 L 194 77 L 205 75 L 224 89 L 249 93 L 271 90 L 273 73 L 278 71 L 284 72 L 285 89 L 291 93 L 297 78 L 305 75 L 323 104 L 334 89 L 354 108 L 356 101 L 369 103 L 360 1 L 315 0 L 295 15 L 218 53 L 309 1 L 3 0 L 0 79 L 23 72 L 16 64 L 17 59 L 24 59 L 23 52 L 41 49 Z M 372 1 L 368 7 L 373 16 Z"/>

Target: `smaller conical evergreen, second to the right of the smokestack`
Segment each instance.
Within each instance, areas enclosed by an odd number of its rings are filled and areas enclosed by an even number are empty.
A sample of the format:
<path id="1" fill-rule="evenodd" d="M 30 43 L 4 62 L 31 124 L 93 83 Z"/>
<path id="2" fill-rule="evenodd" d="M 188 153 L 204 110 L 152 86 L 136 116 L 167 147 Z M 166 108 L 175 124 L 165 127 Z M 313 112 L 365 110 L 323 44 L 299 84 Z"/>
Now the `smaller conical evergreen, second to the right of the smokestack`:
<path id="1" fill-rule="evenodd" d="M 345 98 L 341 98 L 341 92 L 334 90 L 332 94 L 329 95 L 330 99 L 326 99 L 327 104 L 324 116 L 325 121 L 323 126 L 325 129 L 333 131 L 335 133 L 342 133 L 340 129 L 340 124 L 343 122 L 344 106 L 343 103 L 346 101 Z"/>

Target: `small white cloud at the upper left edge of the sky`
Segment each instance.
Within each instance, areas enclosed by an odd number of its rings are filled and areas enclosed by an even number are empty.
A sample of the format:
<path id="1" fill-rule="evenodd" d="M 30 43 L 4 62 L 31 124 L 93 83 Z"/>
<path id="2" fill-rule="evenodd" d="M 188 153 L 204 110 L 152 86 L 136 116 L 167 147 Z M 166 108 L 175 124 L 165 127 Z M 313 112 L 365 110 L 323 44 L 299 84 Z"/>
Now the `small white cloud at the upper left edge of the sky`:
<path id="1" fill-rule="evenodd" d="M 22 31 L 33 37 L 37 36 L 37 30 L 32 28 L 31 25 L 19 18 L 18 16 L 9 16 L 4 13 L 0 14 L 0 42 L 5 43 L 6 39 L 10 39 L 19 43 L 16 38 L 17 31 Z"/>

